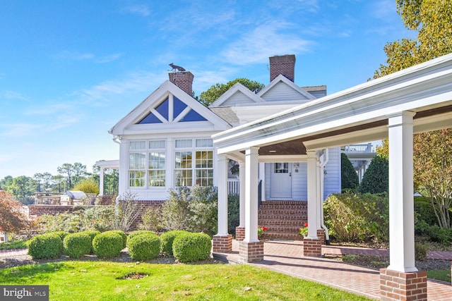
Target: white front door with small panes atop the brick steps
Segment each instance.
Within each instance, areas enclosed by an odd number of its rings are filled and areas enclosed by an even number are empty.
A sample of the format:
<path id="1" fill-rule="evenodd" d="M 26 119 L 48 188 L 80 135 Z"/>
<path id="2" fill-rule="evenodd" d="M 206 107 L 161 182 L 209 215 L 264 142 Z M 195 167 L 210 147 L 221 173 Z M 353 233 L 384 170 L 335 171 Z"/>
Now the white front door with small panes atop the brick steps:
<path id="1" fill-rule="evenodd" d="M 272 163 L 271 164 L 271 191 L 272 198 L 292 197 L 292 164 Z"/>

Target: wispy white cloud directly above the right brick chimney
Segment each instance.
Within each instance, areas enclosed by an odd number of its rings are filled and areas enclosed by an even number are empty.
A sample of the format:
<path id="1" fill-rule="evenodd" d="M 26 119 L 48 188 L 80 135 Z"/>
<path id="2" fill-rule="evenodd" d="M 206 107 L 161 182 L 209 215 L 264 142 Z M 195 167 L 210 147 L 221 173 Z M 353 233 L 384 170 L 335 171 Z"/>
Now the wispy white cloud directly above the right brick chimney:
<path id="1" fill-rule="evenodd" d="M 311 41 L 297 35 L 284 33 L 289 23 L 272 22 L 246 32 L 238 41 L 230 44 L 222 56 L 236 65 L 258 63 L 275 54 L 299 54 L 309 51 Z"/>

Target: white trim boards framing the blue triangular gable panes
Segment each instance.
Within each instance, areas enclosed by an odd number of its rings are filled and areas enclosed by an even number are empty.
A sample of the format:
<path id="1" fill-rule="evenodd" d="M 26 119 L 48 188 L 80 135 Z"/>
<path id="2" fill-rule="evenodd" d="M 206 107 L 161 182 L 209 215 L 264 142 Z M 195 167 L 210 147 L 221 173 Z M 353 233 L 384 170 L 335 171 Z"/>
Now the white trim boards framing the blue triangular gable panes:
<path id="1" fill-rule="evenodd" d="M 155 106 L 158 106 L 161 102 L 163 102 L 167 97 L 170 95 L 174 95 L 178 99 L 180 99 L 182 102 L 184 102 L 187 105 L 187 109 L 179 113 L 179 116 L 172 116 L 172 113 L 169 113 L 167 121 L 160 113 L 158 113 L 154 108 Z M 172 102 L 169 102 L 169 111 L 172 111 L 171 105 Z M 151 93 L 148 97 L 146 97 L 141 104 L 138 104 L 138 106 L 135 107 L 130 113 L 128 113 L 124 118 L 122 118 L 116 125 L 113 126 L 111 130 L 109 130 L 109 133 L 112 135 L 124 135 L 128 132 L 128 130 L 132 130 L 133 132 L 141 131 L 138 130 L 138 128 L 149 129 L 149 125 L 136 125 L 136 123 L 148 115 L 148 113 L 152 112 L 157 116 L 157 118 L 162 121 L 162 123 L 156 123 L 155 125 L 158 125 L 156 128 L 162 128 L 162 124 L 169 124 L 173 123 L 172 126 L 169 126 L 169 128 L 177 128 L 177 125 L 174 126 L 174 123 L 177 123 L 180 121 L 186 113 L 188 113 L 189 109 L 191 108 L 197 113 L 199 113 L 203 118 L 206 118 L 207 121 L 198 121 L 196 123 L 209 123 L 210 125 L 215 128 L 215 130 L 227 130 L 228 128 L 231 128 L 231 125 L 224 121 L 220 116 L 213 113 L 213 111 L 210 111 L 206 106 L 199 103 L 191 97 L 189 94 L 186 94 L 183 90 L 181 90 L 177 85 L 174 85 L 169 80 L 165 81 L 160 85 L 160 87 L 157 88 L 153 93 Z M 207 125 L 207 124 L 205 124 Z M 179 125 L 179 128 L 181 127 L 187 128 L 187 124 L 184 123 L 184 125 Z M 152 128 L 152 125 L 151 125 Z M 163 127 L 165 128 L 165 126 Z"/>

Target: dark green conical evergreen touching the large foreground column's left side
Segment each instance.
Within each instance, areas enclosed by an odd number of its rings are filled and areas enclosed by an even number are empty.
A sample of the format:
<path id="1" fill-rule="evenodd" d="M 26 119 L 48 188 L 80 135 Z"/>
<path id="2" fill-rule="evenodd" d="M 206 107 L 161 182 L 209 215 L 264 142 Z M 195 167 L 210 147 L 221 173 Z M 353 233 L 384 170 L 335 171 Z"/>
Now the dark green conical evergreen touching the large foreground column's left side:
<path id="1" fill-rule="evenodd" d="M 388 159 L 376 155 L 369 164 L 366 173 L 362 177 L 359 192 L 361 193 L 383 193 L 389 188 L 389 164 Z"/>

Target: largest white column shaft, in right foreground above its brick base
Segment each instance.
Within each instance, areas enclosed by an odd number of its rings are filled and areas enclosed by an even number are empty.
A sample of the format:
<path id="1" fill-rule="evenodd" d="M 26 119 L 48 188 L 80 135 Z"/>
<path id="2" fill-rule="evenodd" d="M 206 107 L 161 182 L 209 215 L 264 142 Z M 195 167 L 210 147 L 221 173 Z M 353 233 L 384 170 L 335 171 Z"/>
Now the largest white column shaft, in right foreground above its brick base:
<path id="1" fill-rule="evenodd" d="M 412 117 L 404 111 L 388 116 L 389 137 L 389 266 L 404 273 L 415 267 Z"/>

